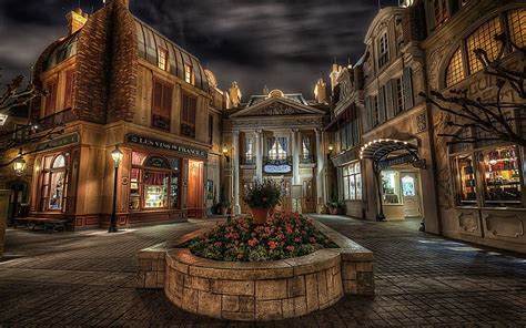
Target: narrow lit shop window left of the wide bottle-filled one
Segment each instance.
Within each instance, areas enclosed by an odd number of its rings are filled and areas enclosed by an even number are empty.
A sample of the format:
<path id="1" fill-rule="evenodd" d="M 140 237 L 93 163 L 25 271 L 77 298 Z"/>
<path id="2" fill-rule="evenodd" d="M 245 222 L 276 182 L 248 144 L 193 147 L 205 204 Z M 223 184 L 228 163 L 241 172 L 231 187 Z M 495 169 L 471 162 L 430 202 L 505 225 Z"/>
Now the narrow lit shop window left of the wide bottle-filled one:
<path id="1" fill-rule="evenodd" d="M 477 201 L 477 187 L 475 166 L 472 155 L 458 155 L 454 157 L 457 176 L 457 204 L 473 204 Z"/>

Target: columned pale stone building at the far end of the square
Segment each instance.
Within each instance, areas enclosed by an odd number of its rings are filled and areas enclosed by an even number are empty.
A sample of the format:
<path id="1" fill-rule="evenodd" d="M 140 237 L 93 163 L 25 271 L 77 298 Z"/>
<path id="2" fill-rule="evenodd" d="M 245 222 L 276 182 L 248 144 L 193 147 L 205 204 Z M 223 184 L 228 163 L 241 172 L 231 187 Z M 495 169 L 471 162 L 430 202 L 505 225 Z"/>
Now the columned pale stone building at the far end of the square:
<path id="1" fill-rule="evenodd" d="M 233 85 L 230 93 L 240 93 L 237 88 Z M 224 183 L 235 214 L 250 213 L 243 195 L 255 180 L 282 185 L 277 209 L 323 211 L 327 199 L 324 88 L 320 81 L 313 102 L 302 94 L 272 90 L 232 109 L 224 121 Z"/>

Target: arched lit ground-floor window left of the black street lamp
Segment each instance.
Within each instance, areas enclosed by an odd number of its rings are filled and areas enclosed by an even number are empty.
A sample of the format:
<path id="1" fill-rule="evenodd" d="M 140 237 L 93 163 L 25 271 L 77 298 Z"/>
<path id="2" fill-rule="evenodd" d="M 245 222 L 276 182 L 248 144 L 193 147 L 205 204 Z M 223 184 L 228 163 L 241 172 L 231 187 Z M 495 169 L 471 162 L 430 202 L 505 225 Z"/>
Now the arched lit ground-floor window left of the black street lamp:
<path id="1" fill-rule="evenodd" d="M 68 191 L 68 154 L 45 156 L 41 173 L 41 211 L 65 211 Z"/>

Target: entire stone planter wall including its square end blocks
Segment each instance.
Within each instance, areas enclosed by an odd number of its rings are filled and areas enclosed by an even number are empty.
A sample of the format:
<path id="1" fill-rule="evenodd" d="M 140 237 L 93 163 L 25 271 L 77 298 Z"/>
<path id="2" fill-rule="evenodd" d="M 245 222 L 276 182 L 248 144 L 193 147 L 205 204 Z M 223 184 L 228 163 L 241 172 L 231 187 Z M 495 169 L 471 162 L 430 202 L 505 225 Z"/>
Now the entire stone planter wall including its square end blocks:
<path id="1" fill-rule="evenodd" d="M 190 312 L 243 321 L 302 316 L 344 294 L 374 294 L 372 252 L 316 226 L 341 248 L 260 263 L 204 259 L 165 244 L 143 249 L 138 287 L 164 288 L 173 304 Z"/>

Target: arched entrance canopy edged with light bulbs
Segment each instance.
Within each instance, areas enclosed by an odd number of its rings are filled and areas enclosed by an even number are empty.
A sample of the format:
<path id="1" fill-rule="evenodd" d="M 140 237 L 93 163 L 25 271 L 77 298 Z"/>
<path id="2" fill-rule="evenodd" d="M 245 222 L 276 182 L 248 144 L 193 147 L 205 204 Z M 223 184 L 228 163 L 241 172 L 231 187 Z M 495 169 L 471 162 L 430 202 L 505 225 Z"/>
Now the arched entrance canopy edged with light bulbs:
<path id="1" fill-rule="evenodd" d="M 418 157 L 417 151 L 416 142 L 378 139 L 362 146 L 360 158 L 372 160 L 376 171 L 398 164 L 413 164 L 415 167 L 424 168 L 425 161 Z"/>

